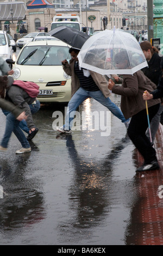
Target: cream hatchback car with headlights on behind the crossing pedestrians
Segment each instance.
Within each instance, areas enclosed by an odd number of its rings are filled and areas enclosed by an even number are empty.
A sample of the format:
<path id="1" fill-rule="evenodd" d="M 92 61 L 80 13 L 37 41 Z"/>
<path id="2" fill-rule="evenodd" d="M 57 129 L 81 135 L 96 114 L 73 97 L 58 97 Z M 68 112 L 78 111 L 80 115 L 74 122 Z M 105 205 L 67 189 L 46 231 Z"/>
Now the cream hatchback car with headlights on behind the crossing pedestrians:
<path id="1" fill-rule="evenodd" d="M 40 87 L 40 102 L 70 101 L 71 77 L 61 64 L 71 59 L 70 47 L 60 40 L 29 42 L 17 56 L 13 78 L 35 82 Z"/>

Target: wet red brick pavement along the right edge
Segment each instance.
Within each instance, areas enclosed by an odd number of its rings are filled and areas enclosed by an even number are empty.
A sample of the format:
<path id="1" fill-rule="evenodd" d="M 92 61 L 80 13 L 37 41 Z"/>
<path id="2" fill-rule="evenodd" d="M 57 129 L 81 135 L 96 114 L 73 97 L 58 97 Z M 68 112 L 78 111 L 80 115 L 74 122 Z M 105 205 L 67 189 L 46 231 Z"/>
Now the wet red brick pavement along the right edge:
<path id="1" fill-rule="evenodd" d="M 130 244 L 163 245 L 163 126 L 160 124 L 154 145 L 159 170 L 141 172 L 136 175 L 139 188 L 139 202 L 131 212 L 133 235 Z M 137 166 L 143 163 L 136 152 Z"/>

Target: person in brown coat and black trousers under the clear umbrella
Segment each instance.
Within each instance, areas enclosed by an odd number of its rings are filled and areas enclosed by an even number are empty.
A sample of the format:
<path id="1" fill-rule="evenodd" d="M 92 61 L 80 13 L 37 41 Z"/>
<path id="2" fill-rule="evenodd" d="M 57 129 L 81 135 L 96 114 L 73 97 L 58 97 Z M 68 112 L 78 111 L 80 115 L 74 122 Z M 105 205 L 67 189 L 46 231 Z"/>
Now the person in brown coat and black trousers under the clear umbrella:
<path id="1" fill-rule="evenodd" d="M 118 69 L 126 69 L 129 66 L 129 59 L 126 51 L 117 53 L 115 62 Z M 137 71 L 133 75 L 123 75 L 122 86 L 116 85 L 109 80 L 109 89 L 112 93 L 122 95 L 121 110 L 124 117 L 130 118 L 128 136 L 135 147 L 143 156 L 145 162 L 137 171 L 159 169 L 156 159 L 156 151 L 146 136 L 148 119 L 146 112 L 146 102 L 142 98 L 143 92 L 152 92 L 156 85 L 147 78 L 142 71 Z M 148 101 L 149 120 L 151 121 L 160 107 L 160 99 Z"/>

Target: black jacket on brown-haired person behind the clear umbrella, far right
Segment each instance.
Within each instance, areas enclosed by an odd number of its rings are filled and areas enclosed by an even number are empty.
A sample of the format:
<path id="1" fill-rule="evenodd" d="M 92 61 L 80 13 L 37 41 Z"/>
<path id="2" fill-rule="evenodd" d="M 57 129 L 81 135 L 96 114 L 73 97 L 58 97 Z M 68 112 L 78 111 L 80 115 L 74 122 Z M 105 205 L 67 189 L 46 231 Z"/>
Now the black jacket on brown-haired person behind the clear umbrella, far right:
<path id="1" fill-rule="evenodd" d="M 161 57 L 158 53 L 154 53 L 152 58 L 148 62 L 148 67 L 143 68 L 143 73 L 153 82 L 156 86 L 159 83 L 159 77 L 161 74 Z"/>

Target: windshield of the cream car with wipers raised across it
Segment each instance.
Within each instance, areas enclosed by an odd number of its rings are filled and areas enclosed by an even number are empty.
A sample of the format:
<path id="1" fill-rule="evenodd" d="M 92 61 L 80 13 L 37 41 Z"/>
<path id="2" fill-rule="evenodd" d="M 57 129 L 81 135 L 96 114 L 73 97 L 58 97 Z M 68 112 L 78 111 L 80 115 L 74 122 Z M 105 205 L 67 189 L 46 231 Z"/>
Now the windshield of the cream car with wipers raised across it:
<path id="1" fill-rule="evenodd" d="M 27 46 L 18 57 L 18 65 L 59 66 L 64 59 L 71 59 L 68 46 Z"/>

